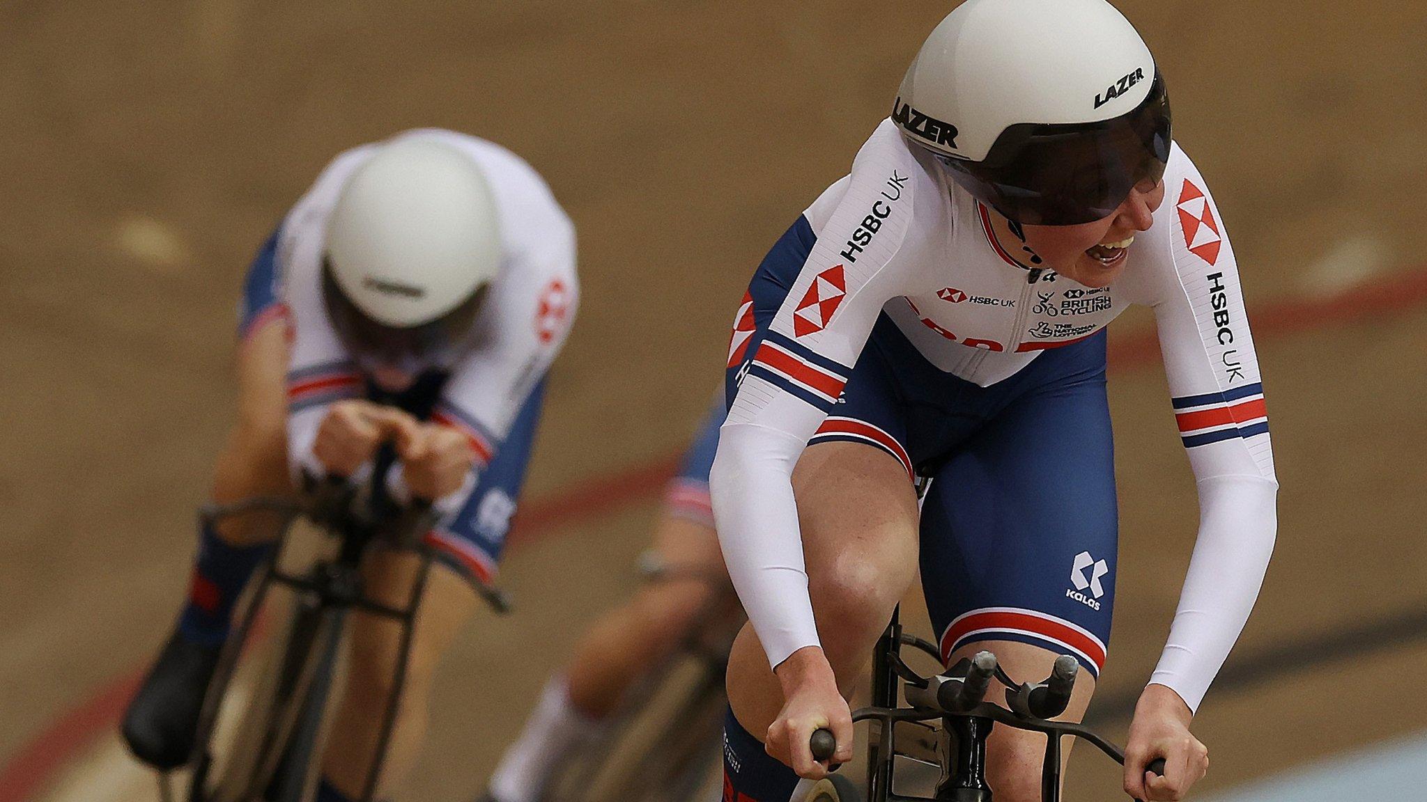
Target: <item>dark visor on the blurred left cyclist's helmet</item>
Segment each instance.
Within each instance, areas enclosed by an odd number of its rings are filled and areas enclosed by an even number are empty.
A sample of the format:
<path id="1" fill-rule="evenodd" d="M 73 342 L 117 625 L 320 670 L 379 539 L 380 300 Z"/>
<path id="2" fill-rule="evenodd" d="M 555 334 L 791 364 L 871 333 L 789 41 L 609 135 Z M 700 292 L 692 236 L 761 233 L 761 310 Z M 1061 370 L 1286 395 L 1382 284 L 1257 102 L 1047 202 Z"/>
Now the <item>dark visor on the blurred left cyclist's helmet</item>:
<path id="1" fill-rule="evenodd" d="M 397 361 L 402 355 L 431 357 L 457 350 L 469 338 L 485 287 L 447 314 L 421 325 L 395 327 L 371 320 L 342 293 L 323 255 L 323 300 L 337 337 L 355 354 Z"/>

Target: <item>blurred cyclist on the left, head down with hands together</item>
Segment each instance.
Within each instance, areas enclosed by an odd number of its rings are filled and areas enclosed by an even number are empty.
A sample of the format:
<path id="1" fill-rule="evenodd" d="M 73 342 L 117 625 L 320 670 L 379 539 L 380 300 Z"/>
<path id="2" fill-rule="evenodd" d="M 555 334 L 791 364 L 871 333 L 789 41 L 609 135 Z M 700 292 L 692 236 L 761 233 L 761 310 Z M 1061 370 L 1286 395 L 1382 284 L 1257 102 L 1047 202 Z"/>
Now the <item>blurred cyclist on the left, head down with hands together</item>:
<path id="1" fill-rule="evenodd" d="M 477 604 L 468 579 L 495 571 L 575 301 L 574 225 L 544 180 L 499 146 L 435 128 L 338 156 L 253 261 L 238 422 L 213 498 L 341 477 L 442 514 L 425 539 L 444 568 L 417 619 L 388 778 L 414 759 L 435 661 Z M 387 442 L 397 465 L 371 477 Z M 277 521 L 260 515 L 198 534 L 188 599 L 123 722 L 143 761 L 187 762 L 234 605 L 275 535 Z M 368 594 L 405 604 L 415 565 L 410 554 L 375 552 Z M 354 621 L 323 802 L 361 789 L 398 629 Z"/>

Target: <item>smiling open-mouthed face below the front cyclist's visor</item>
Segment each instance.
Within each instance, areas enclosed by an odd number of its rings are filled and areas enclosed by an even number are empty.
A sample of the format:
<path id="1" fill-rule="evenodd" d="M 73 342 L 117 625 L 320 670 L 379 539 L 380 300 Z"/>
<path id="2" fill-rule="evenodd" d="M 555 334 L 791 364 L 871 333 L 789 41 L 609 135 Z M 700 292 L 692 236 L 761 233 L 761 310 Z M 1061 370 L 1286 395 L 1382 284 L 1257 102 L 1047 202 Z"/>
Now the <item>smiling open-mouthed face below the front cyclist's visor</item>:
<path id="1" fill-rule="evenodd" d="M 1164 203 L 1164 181 L 1130 190 L 1113 214 L 1077 225 L 1025 225 L 1026 247 L 1045 264 L 1086 287 L 1106 287 L 1124 270 L 1124 245 L 1153 225 L 1154 210 Z"/>

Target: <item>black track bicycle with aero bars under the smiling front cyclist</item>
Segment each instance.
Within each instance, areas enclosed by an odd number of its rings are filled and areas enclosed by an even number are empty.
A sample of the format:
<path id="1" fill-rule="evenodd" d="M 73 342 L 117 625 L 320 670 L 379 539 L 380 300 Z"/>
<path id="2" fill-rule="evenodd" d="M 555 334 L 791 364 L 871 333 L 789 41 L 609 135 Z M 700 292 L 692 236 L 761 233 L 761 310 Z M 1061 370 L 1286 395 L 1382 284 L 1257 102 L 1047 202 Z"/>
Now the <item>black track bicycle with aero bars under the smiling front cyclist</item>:
<path id="1" fill-rule="evenodd" d="M 902 659 L 902 646 L 926 652 L 938 662 L 942 659 L 936 644 L 903 632 L 893 611 L 873 651 L 872 705 L 852 714 L 853 722 L 872 722 L 866 783 L 859 788 L 846 775 L 832 773 L 812 786 L 805 802 L 992 802 L 992 788 L 986 782 L 986 738 L 997 724 L 1046 735 L 1040 766 L 1043 802 L 1060 801 L 1060 741 L 1066 735 L 1087 741 L 1124 763 L 1123 749 L 1085 725 L 1049 721 L 1070 704 L 1079 672 L 1073 656 L 1060 655 L 1050 676 L 1032 684 L 1009 676 L 992 652 L 979 652 L 942 674 L 922 676 Z M 1006 706 L 985 701 L 993 676 L 1006 686 Z M 899 698 L 906 704 L 899 705 Z M 831 731 L 818 729 L 809 746 L 815 759 L 828 761 L 836 742 Z M 898 758 L 940 771 L 933 796 L 906 796 L 893 791 Z M 1156 759 L 1147 768 L 1163 773 L 1164 761 Z"/>

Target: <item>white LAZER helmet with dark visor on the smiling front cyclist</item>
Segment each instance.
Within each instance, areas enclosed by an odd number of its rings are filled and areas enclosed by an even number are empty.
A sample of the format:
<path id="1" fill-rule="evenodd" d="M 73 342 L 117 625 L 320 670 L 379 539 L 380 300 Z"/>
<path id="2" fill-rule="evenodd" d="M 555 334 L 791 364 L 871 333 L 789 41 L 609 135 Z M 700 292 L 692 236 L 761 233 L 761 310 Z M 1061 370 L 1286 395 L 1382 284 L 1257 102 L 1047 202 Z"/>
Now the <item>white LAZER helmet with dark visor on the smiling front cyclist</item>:
<path id="1" fill-rule="evenodd" d="M 1164 78 L 1104 0 L 966 0 L 922 44 L 892 118 L 1023 224 L 1107 217 L 1169 161 Z"/>

